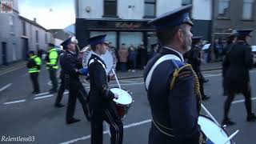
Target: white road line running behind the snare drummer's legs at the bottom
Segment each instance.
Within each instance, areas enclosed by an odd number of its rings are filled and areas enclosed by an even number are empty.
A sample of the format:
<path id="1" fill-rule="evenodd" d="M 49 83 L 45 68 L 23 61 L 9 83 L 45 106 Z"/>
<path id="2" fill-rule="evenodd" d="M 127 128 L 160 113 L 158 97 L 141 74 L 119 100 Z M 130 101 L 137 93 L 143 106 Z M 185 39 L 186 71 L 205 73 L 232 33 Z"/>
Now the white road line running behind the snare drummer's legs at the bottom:
<path id="1" fill-rule="evenodd" d="M 127 129 L 127 128 L 129 128 L 129 127 L 139 126 L 139 125 L 142 125 L 142 124 L 151 122 L 151 121 L 152 121 L 151 119 L 147 119 L 146 121 L 131 123 L 131 124 L 129 124 L 129 125 L 123 126 L 123 128 L 124 128 L 124 129 Z M 108 133 L 107 130 L 103 131 L 103 134 L 107 134 L 107 133 Z M 86 140 L 86 139 L 89 139 L 89 138 L 91 138 L 91 135 L 87 135 L 87 136 L 84 136 L 84 137 L 82 137 L 82 138 L 72 139 L 72 140 L 70 140 L 70 141 L 62 142 L 62 143 L 59 143 L 59 144 L 70 144 L 70 143 L 78 142 L 78 141 L 80 141 L 80 140 Z"/>

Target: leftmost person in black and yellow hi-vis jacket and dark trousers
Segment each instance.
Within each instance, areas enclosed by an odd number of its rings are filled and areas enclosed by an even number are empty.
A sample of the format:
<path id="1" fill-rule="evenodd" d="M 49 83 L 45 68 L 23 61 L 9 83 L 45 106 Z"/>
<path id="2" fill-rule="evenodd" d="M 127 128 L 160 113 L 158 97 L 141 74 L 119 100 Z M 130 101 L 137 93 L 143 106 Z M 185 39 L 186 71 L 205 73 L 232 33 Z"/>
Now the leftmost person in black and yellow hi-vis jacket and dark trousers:
<path id="1" fill-rule="evenodd" d="M 26 64 L 26 67 L 28 68 L 28 72 L 30 73 L 30 78 L 34 87 L 32 94 L 39 94 L 40 89 L 38 83 L 38 74 L 41 69 L 41 58 L 35 55 L 33 50 L 29 51 L 29 57 L 30 58 Z"/>

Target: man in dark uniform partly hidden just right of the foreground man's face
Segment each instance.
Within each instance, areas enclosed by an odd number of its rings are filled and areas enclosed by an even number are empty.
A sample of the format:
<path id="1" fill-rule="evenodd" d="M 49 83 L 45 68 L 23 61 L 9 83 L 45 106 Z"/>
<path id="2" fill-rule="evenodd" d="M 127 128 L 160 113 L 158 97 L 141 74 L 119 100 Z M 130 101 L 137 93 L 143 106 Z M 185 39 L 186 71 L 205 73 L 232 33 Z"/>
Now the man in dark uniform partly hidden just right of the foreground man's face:
<path id="1" fill-rule="evenodd" d="M 202 76 L 202 72 L 200 68 L 202 63 L 201 47 L 200 47 L 201 38 L 202 38 L 201 36 L 192 38 L 192 47 L 188 55 L 188 63 L 190 63 L 190 65 L 193 67 L 194 72 L 198 75 L 202 100 L 207 100 L 210 97 L 207 96 L 204 92 L 204 88 L 203 88 L 204 78 Z"/>

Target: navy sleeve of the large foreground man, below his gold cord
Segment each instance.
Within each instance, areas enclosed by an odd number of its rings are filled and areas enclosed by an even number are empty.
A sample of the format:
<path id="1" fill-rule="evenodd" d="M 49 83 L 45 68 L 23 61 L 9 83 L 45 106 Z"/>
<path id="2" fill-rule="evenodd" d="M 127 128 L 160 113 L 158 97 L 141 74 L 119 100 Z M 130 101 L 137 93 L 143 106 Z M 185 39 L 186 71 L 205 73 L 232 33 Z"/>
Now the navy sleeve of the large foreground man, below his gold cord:
<path id="1" fill-rule="evenodd" d="M 194 78 L 191 70 L 179 72 L 169 94 L 170 122 L 175 140 L 180 144 L 198 144 L 198 104 L 194 95 Z"/>

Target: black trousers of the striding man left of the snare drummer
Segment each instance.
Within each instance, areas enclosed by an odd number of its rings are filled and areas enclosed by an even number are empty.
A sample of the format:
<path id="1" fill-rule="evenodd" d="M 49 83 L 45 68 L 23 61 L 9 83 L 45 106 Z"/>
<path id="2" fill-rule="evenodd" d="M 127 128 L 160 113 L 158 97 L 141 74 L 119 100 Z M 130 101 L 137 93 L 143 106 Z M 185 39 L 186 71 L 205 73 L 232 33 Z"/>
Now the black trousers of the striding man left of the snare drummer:
<path id="1" fill-rule="evenodd" d="M 77 98 L 82 105 L 82 110 L 86 115 L 87 120 L 89 121 L 91 116 L 88 105 L 88 95 L 79 80 L 77 82 L 70 83 L 70 94 L 66 109 L 66 121 L 70 121 L 70 119 L 74 118 L 74 110 Z"/>

